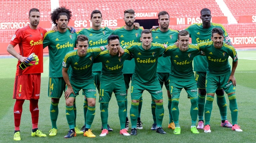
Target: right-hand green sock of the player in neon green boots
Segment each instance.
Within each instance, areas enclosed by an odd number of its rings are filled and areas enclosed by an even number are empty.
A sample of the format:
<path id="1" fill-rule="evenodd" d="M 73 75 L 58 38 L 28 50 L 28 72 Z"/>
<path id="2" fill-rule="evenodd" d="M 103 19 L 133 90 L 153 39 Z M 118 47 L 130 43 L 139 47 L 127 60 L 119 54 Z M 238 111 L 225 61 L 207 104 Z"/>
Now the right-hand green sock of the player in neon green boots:
<path id="1" fill-rule="evenodd" d="M 198 115 L 197 97 L 190 97 L 190 102 L 191 102 L 191 107 L 190 107 L 191 126 L 196 126 L 196 120 Z"/>

